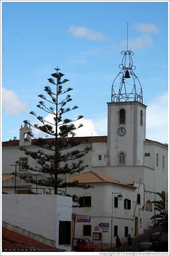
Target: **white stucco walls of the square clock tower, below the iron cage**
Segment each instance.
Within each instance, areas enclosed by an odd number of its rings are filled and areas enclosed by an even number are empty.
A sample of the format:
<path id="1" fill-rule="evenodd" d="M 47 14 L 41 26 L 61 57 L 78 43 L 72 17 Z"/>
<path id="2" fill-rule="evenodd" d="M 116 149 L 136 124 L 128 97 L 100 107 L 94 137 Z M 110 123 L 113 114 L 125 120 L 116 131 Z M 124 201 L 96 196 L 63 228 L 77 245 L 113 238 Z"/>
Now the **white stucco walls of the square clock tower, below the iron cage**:
<path id="1" fill-rule="evenodd" d="M 125 124 L 119 123 L 119 111 L 125 110 Z M 143 125 L 140 125 L 140 111 Z M 138 102 L 108 103 L 108 165 L 118 165 L 118 154 L 125 154 L 125 165 L 142 165 L 145 141 L 146 106 Z M 119 136 L 117 130 L 124 127 L 126 133 Z"/>

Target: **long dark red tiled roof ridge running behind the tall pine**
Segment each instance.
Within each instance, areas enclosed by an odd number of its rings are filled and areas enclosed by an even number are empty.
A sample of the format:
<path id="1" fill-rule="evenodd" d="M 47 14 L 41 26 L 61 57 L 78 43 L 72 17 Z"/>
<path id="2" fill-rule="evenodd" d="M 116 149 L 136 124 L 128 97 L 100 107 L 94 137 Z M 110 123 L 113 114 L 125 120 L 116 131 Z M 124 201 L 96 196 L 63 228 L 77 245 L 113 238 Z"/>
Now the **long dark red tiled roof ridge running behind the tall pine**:
<path id="1" fill-rule="evenodd" d="M 63 141 L 66 141 L 67 138 L 62 138 Z M 69 138 L 68 138 L 69 139 Z M 45 139 L 44 139 L 45 140 Z M 50 143 L 54 138 L 46 139 L 47 143 Z M 32 139 L 32 145 L 36 139 Z M 80 143 L 92 143 L 92 142 L 107 142 L 107 136 L 94 136 L 94 137 L 74 137 L 75 142 Z M 4 141 L 2 142 L 2 147 L 18 147 L 19 140 L 11 140 L 11 141 Z"/>

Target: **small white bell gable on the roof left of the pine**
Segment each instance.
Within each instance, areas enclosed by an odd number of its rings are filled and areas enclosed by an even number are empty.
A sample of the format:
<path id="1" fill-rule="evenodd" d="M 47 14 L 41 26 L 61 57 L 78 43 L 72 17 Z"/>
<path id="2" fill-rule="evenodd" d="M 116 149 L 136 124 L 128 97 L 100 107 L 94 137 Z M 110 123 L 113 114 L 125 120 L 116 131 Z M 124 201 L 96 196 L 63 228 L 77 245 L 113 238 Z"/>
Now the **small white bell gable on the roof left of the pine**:
<path id="1" fill-rule="evenodd" d="M 22 128 L 22 125 L 21 125 L 21 129 L 19 129 L 19 130 L 20 130 L 20 133 L 19 133 L 19 146 L 29 146 L 29 145 L 31 145 L 32 137 L 27 134 L 28 132 L 32 132 L 32 129 L 30 128 L 30 125 L 29 125 L 29 128 L 28 128 L 27 127 L 27 123 L 24 123 L 24 127 Z"/>

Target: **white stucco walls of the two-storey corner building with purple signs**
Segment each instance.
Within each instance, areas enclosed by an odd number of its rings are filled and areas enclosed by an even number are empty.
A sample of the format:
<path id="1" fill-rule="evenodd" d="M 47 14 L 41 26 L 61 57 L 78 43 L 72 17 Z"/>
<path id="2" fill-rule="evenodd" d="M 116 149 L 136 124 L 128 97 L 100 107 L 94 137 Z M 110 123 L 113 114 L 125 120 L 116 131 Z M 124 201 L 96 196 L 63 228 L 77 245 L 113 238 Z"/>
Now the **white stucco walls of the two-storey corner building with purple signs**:
<path id="1" fill-rule="evenodd" d="M 115 245 L 116 237 L 114 237 L 114 225 L 118 226 L 118 235 L 122 242 L 127 240 L 127 238 L 124 237 L 125 226 L 128 227 L 129 233 L 134 237 L 135 221 L 133 214 L 136 189 L 134 190 L 133 188 L 127 188 L 120 184 L 112 183 L 92 183 L 92 186 L 94 186 L 94 188 L 87 190 L 68 188 L 69 193 L 76 193 L 79 196 L 91 196 L 91 207 L 73 208 L 73 213 L 77 215 L 91 216 L 90 223 L 75 223 L 75 237 L 83 237 L 83 225 L 87 224 L 91 225 L 91 236 L 88 236 L 91 241 L 93 241 L 94 232 L 102 233 L 103 249 L 111 248 L 111 238 L 112 246 Z M 118 208 L 114 208 L 114 196 L 118 196 L 119 193 L 122 193 L 123 199 L 122 201 L 118 201 Z M 124 209 L 124 199 L 131 200 L 131 209 Z M 136 213 L 138 216 L 138 212 Z M 109 228 L 100 227 L 100 223 L 109 223 Z M 98 227 L 99 230 L 96 231 L 95 227 Z M 101 241 L 94 240 L 94 244 L 100 245 Z"/>

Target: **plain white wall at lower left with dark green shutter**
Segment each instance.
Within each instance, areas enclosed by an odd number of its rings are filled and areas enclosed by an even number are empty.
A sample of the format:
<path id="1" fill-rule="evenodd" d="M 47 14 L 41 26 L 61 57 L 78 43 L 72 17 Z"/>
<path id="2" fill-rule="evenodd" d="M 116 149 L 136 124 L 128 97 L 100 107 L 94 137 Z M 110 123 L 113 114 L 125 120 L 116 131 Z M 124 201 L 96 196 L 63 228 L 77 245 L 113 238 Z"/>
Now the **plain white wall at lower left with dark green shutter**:
<path id="1" fill-rule="evenodd" d="M 71 221 L 72 198 L 61 195 L 2 194 L 2 221 L 56 241 L 59 221 Z"/>

